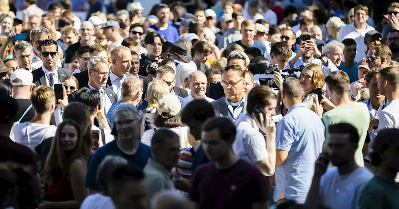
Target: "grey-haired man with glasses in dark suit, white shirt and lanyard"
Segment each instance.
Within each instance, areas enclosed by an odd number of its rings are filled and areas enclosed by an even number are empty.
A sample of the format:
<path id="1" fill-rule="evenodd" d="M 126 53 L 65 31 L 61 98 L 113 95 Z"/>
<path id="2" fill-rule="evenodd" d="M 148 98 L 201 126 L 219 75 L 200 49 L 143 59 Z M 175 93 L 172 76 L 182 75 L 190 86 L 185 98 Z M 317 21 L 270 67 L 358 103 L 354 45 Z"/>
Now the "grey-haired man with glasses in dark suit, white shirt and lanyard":
<path id="1" fill-rule="evenodd" d="M 117 94 L 113 90 L 104 88 L 109 76 L 108 61 L 104 57 L 93 57 L 87 64 L 87 69 L 89 82 L 82 85 L 82 87 L 87 87 L 90 90 L 99 90 L 103 100 L 104 113 L 107 115 L 111 105 L 118 100 Z"/>

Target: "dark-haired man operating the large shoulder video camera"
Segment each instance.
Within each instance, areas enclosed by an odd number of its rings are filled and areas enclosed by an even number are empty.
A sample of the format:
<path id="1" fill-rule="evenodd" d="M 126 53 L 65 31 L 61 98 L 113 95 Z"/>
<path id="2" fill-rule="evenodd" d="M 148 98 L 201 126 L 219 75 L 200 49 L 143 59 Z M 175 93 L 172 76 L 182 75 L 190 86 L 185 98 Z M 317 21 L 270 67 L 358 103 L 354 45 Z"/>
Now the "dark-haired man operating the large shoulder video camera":
<path id="1" fill-rule="evenodd" d="M 282 69 L 287 66 L 287 62 L 292 55 L 292 50 L 285 42 L 277 42 L 272 45 L 270 49 L 270 64 L 278 64 L 278 68 Z M 254 80 L 256 84 L 259 84 L 259 78 L 274 78 L 279 89 L 282 88 L 282 80 L 280 80 L 281 76 L 278 72 L 274 72 L 274 74 L 256 74 L 254 76 Z M 280 82 L 279 82 L 280 81 Z"/>

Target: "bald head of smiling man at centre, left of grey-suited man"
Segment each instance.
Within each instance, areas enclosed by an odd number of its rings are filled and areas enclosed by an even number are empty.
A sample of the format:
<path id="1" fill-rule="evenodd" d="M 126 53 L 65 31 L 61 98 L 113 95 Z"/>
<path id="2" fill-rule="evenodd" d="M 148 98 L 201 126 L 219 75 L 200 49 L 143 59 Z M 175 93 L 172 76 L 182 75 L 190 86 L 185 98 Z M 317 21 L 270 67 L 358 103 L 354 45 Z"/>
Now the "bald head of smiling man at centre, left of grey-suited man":
<path id="1" fill-rule="evenodd" d="M 207 78 L 205 73 L 196 70 L 188 76 L 188 82 L 191 95 L 194 99 L 203 99 L 205 97 Z"/>

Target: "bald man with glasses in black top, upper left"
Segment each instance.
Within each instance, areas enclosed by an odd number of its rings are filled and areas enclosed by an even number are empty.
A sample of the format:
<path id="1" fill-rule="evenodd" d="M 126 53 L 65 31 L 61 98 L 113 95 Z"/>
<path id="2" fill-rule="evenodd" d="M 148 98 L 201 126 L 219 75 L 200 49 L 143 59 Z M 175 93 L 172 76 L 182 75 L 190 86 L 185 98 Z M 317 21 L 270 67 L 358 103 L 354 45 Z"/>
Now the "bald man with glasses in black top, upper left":
<path id="1" fill-rule="evenodd" d="M 91 22 L 83 21 L 78 32 L 80 34 L 80 40 L 77 43 L 69 45 L 65 50 L 64 63 L 66 64 L 72 63 L 73 56 L 75 56 L 77 49 L 81 46 L 91 46 L 95 44 L 95 41 L 93 41 L 95 30 Z"/>

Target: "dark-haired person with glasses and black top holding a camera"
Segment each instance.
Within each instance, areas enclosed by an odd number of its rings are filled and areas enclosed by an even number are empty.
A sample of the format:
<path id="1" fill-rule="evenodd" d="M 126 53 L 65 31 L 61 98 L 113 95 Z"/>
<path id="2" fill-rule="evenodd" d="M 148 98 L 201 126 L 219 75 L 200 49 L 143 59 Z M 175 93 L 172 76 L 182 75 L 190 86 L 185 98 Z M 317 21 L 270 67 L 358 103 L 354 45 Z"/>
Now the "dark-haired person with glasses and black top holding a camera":
<path id="1" fill-rule="evenodd" d="M 160 62 L 159 56 L 162 53 L 162 45 L 164 44 L 164 38 L 162 35 L 156 33 L 156 32 L 150 32 L 146 35 L 144 38 L 144 47 L 148 51 L 148 57 L 151 58 L 153 61 Z M 146 62 L 147 60 L 142 58 L 140 59 L 140 70 L 138 74 L 142 76 L 147 76 L 147 67 L 149 67 L 150 64 Z M 152 62 L 151 67 L 156 69 L 158 67 L 157 63 Z"/>

